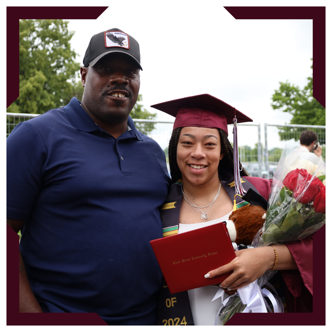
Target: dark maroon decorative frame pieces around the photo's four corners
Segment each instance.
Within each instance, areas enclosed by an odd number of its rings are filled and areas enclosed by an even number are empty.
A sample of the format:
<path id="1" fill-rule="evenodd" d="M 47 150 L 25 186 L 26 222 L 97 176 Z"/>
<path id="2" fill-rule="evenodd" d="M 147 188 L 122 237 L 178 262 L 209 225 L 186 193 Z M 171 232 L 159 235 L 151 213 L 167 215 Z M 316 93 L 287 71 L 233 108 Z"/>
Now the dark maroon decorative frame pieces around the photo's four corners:
<path id="1" fill-rule="evenodd" d="M 19 96 L 18 19 L 96 19 L 107 7 L 7 7 L 7 108 Z M 235 19 L 312 19 L 314 97 L 325 107 L 325 7 L 224 7 Z M 16 68 L 16 69 L 13 69 Z M 7 325 L 107 325 L 96 313 L 19 313 L 18 235 L 7 225 Z M 313 313 L 236 314 L 226 325 L 325 325 L 325 225 L 313 236 Z M 38 315 L 38 316 L 37 316 Z"/>

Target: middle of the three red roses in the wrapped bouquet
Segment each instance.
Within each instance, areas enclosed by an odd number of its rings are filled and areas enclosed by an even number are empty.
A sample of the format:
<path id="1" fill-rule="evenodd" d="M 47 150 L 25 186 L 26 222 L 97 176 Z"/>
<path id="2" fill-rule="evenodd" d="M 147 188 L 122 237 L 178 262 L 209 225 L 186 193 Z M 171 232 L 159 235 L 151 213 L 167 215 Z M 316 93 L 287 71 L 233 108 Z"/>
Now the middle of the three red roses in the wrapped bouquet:
<path id="1" fill-rule="evenodd" d="M 319 191 L 319 184 L 316 181 L 316 177 L 313 177 L 305 170 L 301 168 L 297 175 L 297 182 L 293 197 L 302 204 L 307 204 L 313 201 Z M 310 184 L 308 182 L 311 180 Z M 319 181 L 319 179 L 317 179 Z M 319 181 L 320 182 L 320 181 Z"/>

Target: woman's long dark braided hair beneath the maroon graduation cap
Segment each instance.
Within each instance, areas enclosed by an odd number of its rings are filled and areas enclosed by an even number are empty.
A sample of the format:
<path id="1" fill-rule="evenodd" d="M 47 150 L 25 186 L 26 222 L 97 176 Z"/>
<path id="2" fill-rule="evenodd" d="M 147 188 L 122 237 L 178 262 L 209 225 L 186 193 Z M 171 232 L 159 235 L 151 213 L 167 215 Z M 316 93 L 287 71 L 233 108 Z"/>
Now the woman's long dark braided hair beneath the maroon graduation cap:
<path id="1" fill-rule="evenodd" d="M 177 163 L 176 152 L 178 147 L 178 141 L 180 136 L 180 131 L 182 127 L 175 128 L 172 132 L 171 139 L 168 145 L 168 159 L 169 159 L 169 168 L 171 171 L 172 182 L 176 182 L 182 178 L 182 174 L 180 168 Z M 220 160 L 218 170 L 229 171 L 234 174 L 234 163 L 233 163 L 233 147 L 231 146 L 228 136 L 225 130 L 218 129 L 220 134 L 220 142 L 221 142 L 221 153 L 224 153 L 225 156 Z M 240 175 L 241 176 L 249 176 L 246 170 L 242 167 L 240 163 Z"/>

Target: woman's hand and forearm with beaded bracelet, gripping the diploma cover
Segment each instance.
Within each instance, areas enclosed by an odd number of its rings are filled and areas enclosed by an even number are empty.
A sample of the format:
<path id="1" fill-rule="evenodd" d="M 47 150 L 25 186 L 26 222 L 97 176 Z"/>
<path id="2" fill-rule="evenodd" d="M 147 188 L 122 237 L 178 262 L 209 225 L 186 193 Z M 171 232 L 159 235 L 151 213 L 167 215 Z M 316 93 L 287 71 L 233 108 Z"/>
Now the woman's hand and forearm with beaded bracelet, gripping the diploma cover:
<path id="1" fill-rule="evenodd" d="M 297 270 L 296 263 L 286 245 L 273 245 L 268 247 L 251 248 L 235 251 L 236 258 L 230 263 L 208 272 L 207 278 L 233 271 L 220 286 L 228 290 L 236 290 L 249 285 L 261 277 L 265 271 L 271 270 L 275 262 L 275 253 L 278 252 L 276 270 Z M 207 275 L 206 275 L 207 276 Z"/>

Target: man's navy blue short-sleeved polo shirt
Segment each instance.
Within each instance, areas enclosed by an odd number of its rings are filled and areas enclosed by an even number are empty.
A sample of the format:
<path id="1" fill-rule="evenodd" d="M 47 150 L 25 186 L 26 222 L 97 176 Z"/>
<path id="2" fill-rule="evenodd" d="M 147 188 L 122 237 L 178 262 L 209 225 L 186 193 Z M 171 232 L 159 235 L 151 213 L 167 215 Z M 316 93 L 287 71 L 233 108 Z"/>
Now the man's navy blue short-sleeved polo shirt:
<path id="1" fill-rule="evenodd" d="M 110 325 L 155 325 L 162 274 L 150 240 L 169 176 L 163 150 L 132 119 L 115 139 L 70 103 L 7 138 L 7 217 L 44 312 L 97 312 Z"/>

